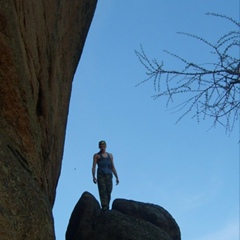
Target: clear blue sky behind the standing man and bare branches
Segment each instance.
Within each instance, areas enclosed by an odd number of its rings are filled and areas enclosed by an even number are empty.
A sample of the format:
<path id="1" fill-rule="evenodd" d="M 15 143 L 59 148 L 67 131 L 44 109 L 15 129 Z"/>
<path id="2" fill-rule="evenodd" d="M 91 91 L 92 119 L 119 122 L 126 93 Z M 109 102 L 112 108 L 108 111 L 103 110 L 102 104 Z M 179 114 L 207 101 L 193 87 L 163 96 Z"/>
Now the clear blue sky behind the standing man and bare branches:
<path id="1" fill-rule="evenodd" d="M 145 69 L 134 50 L 171 59 L 163 50 L 211 62 L 201 42 L 215 42 L 232 25 L 205 13 L 239 20 L 238 0 L 99 0 L 73 82 L 62 172 L 54 206 L 56 239 L 64 240 L 71 212 L 92 182 L 93 154 L 106 140 L 120 184 L 112 200 L 126 198 L 165 208 L 183 240 L 239 240 L 239 124 L 230 136 L 211 120 L 166 111 L 153 100 L 153 84 L 135 87 Z"/>

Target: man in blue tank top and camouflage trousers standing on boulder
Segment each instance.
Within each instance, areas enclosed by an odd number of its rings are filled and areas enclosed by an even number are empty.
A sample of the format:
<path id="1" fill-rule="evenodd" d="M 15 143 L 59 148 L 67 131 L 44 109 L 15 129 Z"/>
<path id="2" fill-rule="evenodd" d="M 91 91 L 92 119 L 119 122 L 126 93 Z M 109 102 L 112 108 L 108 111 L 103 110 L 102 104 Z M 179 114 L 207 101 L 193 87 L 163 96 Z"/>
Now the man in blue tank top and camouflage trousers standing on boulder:
<path id="1" fill-rule="evenodd" d="M 98 184 L 102 210 L 106 211 L 109 209 L 111 200 L 113 174 L 116 178 L 116 185 L 119 184 L 119 179 L 114 166 L 113 155 L 106 152 L 106 142 L 100 141 L 98 146 L 100 151 L 93 156 L 92 177 L 93 182 Z M 97 178 L 95 177 L 96 165 L 98 165 Z"/>

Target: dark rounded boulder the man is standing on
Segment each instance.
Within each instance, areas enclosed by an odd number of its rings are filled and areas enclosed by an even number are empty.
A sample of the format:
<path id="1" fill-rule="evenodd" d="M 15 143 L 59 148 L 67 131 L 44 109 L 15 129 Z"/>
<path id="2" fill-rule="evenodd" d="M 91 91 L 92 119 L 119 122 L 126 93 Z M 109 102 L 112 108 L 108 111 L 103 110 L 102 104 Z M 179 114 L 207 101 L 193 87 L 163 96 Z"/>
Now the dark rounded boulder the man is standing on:
<path id="1" fill-rule="evenodd" d="M 69 220 L 66 240 L 180 240 L 173 217 L 162 207 L 126 199 L 113 201 L 102 211 L 98 201 L 84 192 Z"/>

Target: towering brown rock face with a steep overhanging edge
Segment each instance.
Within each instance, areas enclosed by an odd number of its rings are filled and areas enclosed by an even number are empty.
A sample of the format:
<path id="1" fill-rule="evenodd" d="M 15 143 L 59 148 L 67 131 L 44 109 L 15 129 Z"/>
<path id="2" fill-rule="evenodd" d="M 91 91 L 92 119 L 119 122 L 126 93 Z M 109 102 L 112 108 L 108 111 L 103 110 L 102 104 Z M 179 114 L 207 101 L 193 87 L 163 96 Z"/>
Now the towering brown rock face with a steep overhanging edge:
<path id="1" fill-rule="evenodd" d="M 1 0 L 1 240 L 55 238 L 72 80 L 96 3 Z"/>

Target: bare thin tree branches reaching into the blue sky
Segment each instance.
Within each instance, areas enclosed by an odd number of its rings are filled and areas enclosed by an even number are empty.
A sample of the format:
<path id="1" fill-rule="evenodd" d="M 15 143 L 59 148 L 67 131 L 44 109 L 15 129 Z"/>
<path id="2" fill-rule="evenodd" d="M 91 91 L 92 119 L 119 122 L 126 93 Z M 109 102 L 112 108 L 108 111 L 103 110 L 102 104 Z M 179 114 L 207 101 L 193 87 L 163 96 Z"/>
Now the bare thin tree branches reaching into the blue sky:
<path id="1" fill-rule="evenodd" d="M 221 124 L 226 132 L 231 133 L 239 118 L 240 109 L 240 23 L 232 18 L 215 13 L 207 15 L 230 21 L 236 30 L 221 36 L 216 43 L 210 43 L 197 35 L 182 33 L 211 49 L 216 61 L 208 64 L 190 62 L 174 53 L 164 51 L 183 64 L 180 70 L 169 70 L 164 62 L 150 60 L 143 47 L 135 51 L 139 61 L 146 69 L 147 79 L 139 84 L 152 80 L 157 93 L 154 99 L 167 97 L 167 107 L 176 95 L 183 95 L 184 100 L 172 109 L 181 112 L 177 122 L 190 112 L 200 121 L 200 117 L 213 119 L 213 125 Z M 139 85 L 138 84 L 138 85 Z"/>

